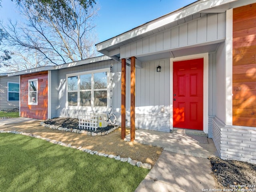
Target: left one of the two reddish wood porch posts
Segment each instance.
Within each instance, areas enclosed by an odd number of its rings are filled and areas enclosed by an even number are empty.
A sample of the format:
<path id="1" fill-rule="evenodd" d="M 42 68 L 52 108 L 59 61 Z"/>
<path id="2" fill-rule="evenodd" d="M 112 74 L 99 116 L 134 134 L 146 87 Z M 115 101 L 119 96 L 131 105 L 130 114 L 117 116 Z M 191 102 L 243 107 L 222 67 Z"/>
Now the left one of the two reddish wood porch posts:
<path id="1" fill-rule="evenodd" d="M 125 138 L 125 100 L 126 100 L 126 59 L 122 59 L 122 73 L 121 73 L 121 138 Z"/>

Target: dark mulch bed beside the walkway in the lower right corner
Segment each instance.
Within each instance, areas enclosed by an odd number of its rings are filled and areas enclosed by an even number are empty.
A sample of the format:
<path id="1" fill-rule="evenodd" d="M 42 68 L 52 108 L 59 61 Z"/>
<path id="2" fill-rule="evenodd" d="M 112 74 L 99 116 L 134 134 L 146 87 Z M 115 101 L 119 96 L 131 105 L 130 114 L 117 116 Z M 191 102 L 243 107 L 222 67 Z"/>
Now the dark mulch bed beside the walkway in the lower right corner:
<path id="1" fill-rule="evenodd" d="M 248 187 L 252 191 L 256 189 L 256 164 L 236 160 L 222 160 L 218 157 L 211 157 L 210 162 L 213 175 L 221 186 L 236 188 L 232 186 L 246 185 L 241 188 Z"/>

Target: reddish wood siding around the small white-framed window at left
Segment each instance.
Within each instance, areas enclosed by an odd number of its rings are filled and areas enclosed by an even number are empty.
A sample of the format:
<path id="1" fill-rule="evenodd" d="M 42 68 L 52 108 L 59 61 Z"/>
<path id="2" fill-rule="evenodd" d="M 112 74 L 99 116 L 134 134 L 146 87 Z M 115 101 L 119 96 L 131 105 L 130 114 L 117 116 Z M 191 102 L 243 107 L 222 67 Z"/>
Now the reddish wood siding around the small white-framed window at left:
<path id="1" fill-rule="evenodd" d="M 38 79 L 38 105 L 28 105 L 28 80 Z M 20 115 L 22 117 L 48 118 L 48 72 L 20 76 Z"/>

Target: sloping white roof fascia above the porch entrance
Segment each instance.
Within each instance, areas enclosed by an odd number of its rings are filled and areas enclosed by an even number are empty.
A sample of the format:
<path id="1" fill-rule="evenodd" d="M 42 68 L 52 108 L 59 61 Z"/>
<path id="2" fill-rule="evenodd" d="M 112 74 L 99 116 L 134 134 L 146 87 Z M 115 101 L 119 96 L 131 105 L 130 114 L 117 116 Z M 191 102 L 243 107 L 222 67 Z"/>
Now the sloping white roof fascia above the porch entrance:
<path id="1" fill-rule="evenodd" d="M 164 26 L 164 25 L 167 25 L 174 21 L 180 20 L 180 19 L 190 16 L 192 14 L 202 12 L 203 10 L 207 10 L 210 8 L 215 8 L 217 6 L 221 6 L 224 4 L 236 2 L 236 1 L 238 1 L 238 0 L 199 0 L 199 1 L 196 1 L 193 4 L 190 4 L 190 5 L 188 5 L 184 8 L 181 8 L 179 10 L 176 10 L 170 14 L 167 14 L 166 16 L 162 16 L 156 20 L 152 20 L 151 22 L 148 22 L 148 23 L 143 24 L 137 28 L 134 28 L 128 32 L 120 34 L 119 36 L 116 36 L 116 37 L 106 40 L 104 42 L 98 43 L 98 44 L 96 44 L 97 50 L 98 50 L 98 52 L 101 52 L 101 50 L 104 50 L 110 46 L 124 42 L 124 41 L 134 38 L 138 35 L 145 34 L 147 32 L 155 30 L 161 26 Z"/>

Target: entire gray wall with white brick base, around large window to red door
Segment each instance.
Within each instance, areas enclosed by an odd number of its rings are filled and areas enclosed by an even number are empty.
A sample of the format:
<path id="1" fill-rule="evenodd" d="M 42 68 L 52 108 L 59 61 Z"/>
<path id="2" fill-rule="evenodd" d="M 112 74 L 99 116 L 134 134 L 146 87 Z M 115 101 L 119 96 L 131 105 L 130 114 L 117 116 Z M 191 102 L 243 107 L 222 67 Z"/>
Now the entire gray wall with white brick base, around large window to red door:
<path id="1" fill-rule="evenodd" d="M 112 109 L 121 122 L 121 63 L 114 60 L 58 70 L 58 109 L 56 116 L 77 118 L 83 108 L 66 108 L 66 74 L 112 67 Z M 156 67 L 161 66 L 161 72 Z M 170 59 L 145 62 L 136 68 L 136 128 L 170 131 Z M 130 126 L 130 67 L 126 67 L 126 125 Z M 164 107 L 164 113 L 160 108 Z M 96 111 L 104 112 L 108 111 Z"/>

